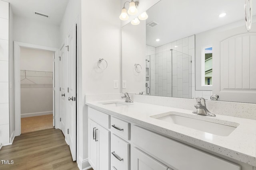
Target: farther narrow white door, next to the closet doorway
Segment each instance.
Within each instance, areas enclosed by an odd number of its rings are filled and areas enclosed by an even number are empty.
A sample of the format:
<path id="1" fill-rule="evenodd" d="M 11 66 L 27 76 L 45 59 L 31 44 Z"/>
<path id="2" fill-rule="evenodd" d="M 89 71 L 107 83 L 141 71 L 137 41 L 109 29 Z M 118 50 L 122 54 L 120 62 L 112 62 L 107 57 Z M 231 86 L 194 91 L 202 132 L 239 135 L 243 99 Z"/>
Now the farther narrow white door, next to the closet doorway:
<path id="1" fill-rule="evenodd" d="M 60 63 L 59 63 L 59 82 L 60 82 L 60 129 L 65 135 L 66 117 L 65 117 L 65 47 L 60 50 Z"/>

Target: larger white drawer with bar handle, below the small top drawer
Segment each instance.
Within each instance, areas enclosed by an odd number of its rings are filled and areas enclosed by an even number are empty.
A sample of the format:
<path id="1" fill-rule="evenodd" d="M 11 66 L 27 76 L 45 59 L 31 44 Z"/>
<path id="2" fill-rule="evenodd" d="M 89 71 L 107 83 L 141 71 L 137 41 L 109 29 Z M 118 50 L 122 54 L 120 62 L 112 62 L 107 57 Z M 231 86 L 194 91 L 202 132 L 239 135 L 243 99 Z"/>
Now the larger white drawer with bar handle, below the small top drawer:
<path id="1" fill-rule="evenodd" d="M 110 137 L 110 167 L 114 170 L 130 170 L 130 143 L 114 134 Z"/>

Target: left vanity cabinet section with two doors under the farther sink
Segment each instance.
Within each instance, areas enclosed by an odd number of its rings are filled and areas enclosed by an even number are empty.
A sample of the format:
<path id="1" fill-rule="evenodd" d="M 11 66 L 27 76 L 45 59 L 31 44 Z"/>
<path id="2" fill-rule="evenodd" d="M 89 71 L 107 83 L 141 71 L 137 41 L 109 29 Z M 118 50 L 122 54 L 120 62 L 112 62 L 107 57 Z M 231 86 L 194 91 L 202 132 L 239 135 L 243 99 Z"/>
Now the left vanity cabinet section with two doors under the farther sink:
<path id="1" fill-rule="evenodd" d="M 92 120 L 95 116 L 92 114 L 95 112 L 97 113 L 97 110 L 92 109 L 88 113 L 88 161 L 94 170 L 110 170 L 110 131 Z M 106 118 L 106 114 L 99 113 L 98 116 L 99 120 L 104 120 L 103 124 L 108 126 L 109 120 L 101 119 Z"/>

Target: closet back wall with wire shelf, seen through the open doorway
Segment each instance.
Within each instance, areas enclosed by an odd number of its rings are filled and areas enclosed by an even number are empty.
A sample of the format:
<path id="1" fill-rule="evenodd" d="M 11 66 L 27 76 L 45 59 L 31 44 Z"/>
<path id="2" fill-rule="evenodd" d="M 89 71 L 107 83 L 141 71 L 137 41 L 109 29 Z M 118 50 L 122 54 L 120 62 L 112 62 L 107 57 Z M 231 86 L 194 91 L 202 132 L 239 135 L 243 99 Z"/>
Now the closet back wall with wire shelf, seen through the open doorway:
<path id="1" fill-rule="evenodd" d="M 52 72 L 53 62 L 52 51 L 38 49 L 20 48 L 20 69 Z M 20 80 L 20 106 L 21 115 L 38 112 L 50 112 L 53 110 L 52 103 L 52 77 L 44 77 L 44 73 L 26 72 L 27 79 L 24 79 L 24 72 L 21 72 Z M 52 74 L 47 74 L 51 76 Z M 38 77 L 33 77 L 38 76 Z"/>

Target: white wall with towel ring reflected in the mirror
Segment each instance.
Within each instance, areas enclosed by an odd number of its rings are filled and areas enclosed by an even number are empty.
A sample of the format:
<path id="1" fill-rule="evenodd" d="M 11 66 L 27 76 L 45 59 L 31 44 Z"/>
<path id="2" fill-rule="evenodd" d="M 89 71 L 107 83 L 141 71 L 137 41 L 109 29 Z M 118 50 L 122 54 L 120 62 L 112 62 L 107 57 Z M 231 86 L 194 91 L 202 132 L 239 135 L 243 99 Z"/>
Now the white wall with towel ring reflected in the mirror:
<path id="1" fill-rule="evenodd" d="M 126 88 L 122 92 L 138 94 L 145 91 L 146 83 L 146 21 L 139 25 L 126 24 L 122 27 L 122 81 Z M 135 70 L 134 64 L 140 64 Z M 141 72 L 140 72 L 141 71 Z"/>

